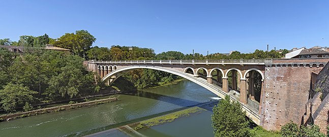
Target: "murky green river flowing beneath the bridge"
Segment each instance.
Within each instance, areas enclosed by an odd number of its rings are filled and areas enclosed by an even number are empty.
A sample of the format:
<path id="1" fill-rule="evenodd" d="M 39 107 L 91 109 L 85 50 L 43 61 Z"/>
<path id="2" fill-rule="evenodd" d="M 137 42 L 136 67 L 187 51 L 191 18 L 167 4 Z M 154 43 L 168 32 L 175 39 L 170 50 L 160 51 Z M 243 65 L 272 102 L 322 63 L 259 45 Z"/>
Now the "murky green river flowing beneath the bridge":
<path id="1" fill-rule="evenodd" d="M 120 101 L 0 122 L 1 136 L 81 136 L 207 102 L 216 95 L 184 80 L 173 85 L 115 95 Z M 214 136 L 211 109 L 138 130 L 144 136 Z M 127 136 L 119 130 L 106 136 Z M 102 135 L 99 135 L 102 136 Z"/>

